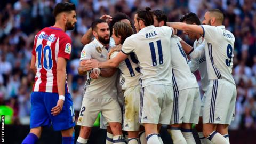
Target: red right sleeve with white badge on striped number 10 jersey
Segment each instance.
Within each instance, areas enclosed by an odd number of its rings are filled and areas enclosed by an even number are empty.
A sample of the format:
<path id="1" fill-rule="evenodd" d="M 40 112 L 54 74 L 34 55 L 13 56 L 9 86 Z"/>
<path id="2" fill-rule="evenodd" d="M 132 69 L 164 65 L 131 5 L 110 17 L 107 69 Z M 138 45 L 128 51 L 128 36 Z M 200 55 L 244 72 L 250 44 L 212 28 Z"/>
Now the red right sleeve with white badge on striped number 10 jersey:
<path id="1" fill-rule="evenodd" d="M 68 60 L 70 59 L 72 49 L 71 43 L 71 39 L 68 36 L 60 38 L 58 57 L 62 57 Z"/>

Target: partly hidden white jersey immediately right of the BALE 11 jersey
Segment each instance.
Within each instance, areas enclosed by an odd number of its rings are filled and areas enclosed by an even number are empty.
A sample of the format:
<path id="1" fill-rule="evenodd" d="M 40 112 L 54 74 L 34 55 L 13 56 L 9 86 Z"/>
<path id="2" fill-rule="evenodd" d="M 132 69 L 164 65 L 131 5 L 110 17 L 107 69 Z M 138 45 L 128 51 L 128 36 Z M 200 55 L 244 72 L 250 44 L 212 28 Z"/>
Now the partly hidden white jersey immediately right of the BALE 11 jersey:
<path id="1" fill-rule="evenodd" d="M 187 55 L 177 36 L 171 38 L 171 57 L 173 90 L 180 91 L 199 87 L 195 75 L 190 71 Z"/>

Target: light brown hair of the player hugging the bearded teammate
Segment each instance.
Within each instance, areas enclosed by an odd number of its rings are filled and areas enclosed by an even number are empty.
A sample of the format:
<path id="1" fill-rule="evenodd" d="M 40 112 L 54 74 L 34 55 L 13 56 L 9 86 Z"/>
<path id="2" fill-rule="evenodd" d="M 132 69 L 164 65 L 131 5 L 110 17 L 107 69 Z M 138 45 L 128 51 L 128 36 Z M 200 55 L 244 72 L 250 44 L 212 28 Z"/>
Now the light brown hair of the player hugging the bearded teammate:
<path id="1" fill-rule="evenodd" d="M 133 29 L 130 25 L 124 22 L 116 22 L 113 26 L 116 36 L 121 36 L 121 44 L 124 43 L 125 39 L 133 34 Z"/>

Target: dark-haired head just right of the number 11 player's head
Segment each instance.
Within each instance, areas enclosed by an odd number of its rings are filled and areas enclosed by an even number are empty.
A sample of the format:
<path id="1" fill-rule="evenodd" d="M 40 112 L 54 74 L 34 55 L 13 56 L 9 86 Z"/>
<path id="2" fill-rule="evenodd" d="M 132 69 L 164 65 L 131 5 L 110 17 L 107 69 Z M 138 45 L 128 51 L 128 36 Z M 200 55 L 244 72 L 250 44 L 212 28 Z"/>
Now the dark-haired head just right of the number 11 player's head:
<path id="1" fill-rule="evenodd" d="M 161 10 L 154 10 L 154 26 L 161 27 L 166 26 L 167 15 Z"/>

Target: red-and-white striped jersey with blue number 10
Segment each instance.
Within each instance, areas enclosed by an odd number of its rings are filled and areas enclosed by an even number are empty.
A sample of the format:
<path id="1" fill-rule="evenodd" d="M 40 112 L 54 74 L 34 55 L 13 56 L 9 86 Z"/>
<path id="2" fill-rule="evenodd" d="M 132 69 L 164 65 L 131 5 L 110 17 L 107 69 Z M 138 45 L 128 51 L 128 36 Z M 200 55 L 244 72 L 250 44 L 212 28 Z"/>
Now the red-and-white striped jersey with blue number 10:
<path id="1" fill-rule="evenodd" d="M 37 33 L 32 51 L 36 58 L 33 91 L 58 93 L 57 59 L 58 57 L 69 59 L 70 53 L 71 39 L 62 29 L 46 27 Z M 67 81 L 66 92 L 69 92 Z"/>

